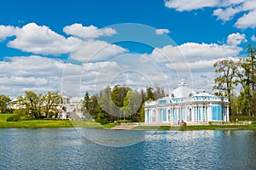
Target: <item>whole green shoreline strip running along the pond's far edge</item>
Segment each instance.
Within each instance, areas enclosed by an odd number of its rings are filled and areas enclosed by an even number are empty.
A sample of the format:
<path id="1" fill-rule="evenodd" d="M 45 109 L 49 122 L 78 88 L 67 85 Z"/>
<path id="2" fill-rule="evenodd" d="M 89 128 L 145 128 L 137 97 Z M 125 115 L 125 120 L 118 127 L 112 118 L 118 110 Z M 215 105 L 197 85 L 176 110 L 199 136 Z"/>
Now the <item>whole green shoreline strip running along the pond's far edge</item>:
<path id="1" fill-rule="evenodd" d="M 41 127 L 87 127 L 87 128 L 105 128 L 109 130 L 256 130 L 256 124 L 250 125 L 192 125 L 192 126 L 147 126 L 147 125 L 115 125 L 108 123 L 101 125 L 97 122 L 86 121 L 62 121 L 62 120 L 34 120 L 20 122 L 0 122 L 0 128 L 41 128 Z"/>

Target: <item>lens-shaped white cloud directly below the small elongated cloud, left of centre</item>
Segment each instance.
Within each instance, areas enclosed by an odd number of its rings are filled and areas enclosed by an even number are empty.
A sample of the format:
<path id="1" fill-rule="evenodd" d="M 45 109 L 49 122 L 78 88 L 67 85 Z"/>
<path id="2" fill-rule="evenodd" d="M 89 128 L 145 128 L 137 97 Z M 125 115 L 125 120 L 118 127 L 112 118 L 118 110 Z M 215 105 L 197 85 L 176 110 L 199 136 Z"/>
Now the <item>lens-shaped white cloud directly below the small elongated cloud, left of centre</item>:
<path id="1" fill-rule="evenodd" d="M 127 52 L 125 48 L 100 40 L 87 40 L 81 42 L 79 47 L 70 55 L 70 59 L 83 62 L 103 61 L 113 58 L 118 54 Z"/>

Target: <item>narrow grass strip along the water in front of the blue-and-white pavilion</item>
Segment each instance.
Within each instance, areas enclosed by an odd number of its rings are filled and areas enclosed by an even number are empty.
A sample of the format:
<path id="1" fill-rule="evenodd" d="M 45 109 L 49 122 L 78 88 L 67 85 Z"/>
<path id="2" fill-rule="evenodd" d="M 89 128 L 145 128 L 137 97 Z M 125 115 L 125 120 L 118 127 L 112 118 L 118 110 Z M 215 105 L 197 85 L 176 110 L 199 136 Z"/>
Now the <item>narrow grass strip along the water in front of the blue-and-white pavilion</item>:
<path id="1" fill-rule="evenodd" d="M 256 130 L 256 124 L 246 126 L 186 126 L 186 127 L 171 127 L 171 126 L 137 126 L 133 127 L 132 130 L 221 130 L 221 129 L 254 129 Z"/>

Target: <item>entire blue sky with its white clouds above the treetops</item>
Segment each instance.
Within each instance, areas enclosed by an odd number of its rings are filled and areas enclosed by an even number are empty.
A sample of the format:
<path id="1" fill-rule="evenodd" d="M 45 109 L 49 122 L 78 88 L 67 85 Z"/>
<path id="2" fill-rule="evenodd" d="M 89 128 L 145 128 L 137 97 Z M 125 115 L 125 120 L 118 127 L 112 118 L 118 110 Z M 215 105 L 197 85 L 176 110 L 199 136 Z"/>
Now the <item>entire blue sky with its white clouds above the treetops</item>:
<path id="1" fill-rule="evenodd" d="M 158 84 L 168 93 L 182 78 L 211 93 L 212 64 L 256 44 L 253 0 L 9 0 L 1 7 L 0 94 L 11 97 L 29 89 L 94 94 L 115 83 Z"/>

